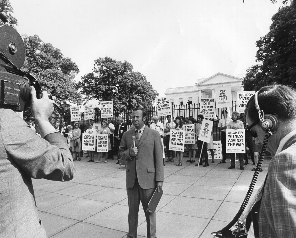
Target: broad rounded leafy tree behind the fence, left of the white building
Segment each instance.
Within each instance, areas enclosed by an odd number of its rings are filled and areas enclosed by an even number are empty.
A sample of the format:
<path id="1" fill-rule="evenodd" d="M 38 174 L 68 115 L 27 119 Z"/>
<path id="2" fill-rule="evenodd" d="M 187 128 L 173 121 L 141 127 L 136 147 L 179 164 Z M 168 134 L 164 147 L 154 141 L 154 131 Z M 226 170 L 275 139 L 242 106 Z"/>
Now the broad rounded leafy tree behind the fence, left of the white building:
<path id="1" fill-rule="evenodd" d="M 92 72 L 81 79 L 78 86 L 82 88 L 86 99 L 113 100 L 117 112 L 152 106 L 159 95 L 142 73 L 133 71 L 129 62 L 116 61 L 110 57 L 95 60 Z"/>

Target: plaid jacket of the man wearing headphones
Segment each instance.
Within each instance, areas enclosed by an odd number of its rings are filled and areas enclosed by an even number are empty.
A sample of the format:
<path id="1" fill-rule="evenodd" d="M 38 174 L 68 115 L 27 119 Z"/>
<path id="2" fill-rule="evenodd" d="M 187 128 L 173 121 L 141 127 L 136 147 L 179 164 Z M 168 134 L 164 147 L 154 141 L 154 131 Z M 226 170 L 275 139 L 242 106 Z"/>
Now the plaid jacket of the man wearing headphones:
<path id="1" fill-rule="evenodd" d="M 259 211 L 259 235 L 264 237 L 296 236 L 296 135 L 274 156 Z"/>

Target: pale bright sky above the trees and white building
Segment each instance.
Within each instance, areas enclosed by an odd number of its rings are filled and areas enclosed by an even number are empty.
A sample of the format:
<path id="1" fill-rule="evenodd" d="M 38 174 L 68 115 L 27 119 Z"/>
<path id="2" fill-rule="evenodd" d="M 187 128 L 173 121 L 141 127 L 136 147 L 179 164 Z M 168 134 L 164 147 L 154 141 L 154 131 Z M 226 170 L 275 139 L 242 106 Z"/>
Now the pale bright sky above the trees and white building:
<path id="1" fill-rule="evenodd" d="M 131 63 L 159 96 L 218 72 L 242 77 L 281 1 L 10 0 L 20 34 L 39 35 L 90 73 L 106 56 Z"/>

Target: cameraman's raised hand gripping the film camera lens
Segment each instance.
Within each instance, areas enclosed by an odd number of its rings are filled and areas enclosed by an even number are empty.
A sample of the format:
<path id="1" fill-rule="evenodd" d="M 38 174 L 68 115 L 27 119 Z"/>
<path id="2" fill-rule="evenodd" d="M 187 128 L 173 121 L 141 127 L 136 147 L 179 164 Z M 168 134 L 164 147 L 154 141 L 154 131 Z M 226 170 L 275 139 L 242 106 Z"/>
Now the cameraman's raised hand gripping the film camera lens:
<path id="1" fill-rule="evenodd" d="M 36 90 L 33 86 L 30 87 L 31 94 L 31 112 L 36 123 L 40 121 L 48 121 L 48 118 L 53 113 L 53 101 L 48 98 L 46 91 L 42 92 L 42 98 L 36 98 Z"/>

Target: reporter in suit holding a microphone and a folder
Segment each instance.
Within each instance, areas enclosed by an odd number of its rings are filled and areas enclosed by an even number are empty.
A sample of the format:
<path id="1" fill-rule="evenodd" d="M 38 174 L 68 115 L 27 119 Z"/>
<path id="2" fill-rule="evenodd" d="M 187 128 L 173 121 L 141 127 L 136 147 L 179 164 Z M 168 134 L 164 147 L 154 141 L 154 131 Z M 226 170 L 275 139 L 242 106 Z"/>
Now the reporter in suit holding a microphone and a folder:
<path id="1" fill-rule="evenodd" d="M 159 132 L 145 126 L 146 112 L 135 109 L 132 112 L 134 129 L 123 134 L 120 159 L 127 161 L 126 192 L 129 203 L 129 233 L 127 238 L 137 237 L 138 211 L 140 201 L 147 222 L 147 237 L 156 237 L 156 212 L 147 212 L 148 202 L 154 191 L 160 191 L 163 184 L 163 148 Z M 134 136 L 135 139 L 132 139 Z M 135 146 L 134 146 L 135 143 Z"/>

